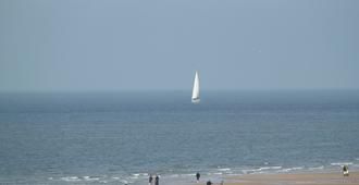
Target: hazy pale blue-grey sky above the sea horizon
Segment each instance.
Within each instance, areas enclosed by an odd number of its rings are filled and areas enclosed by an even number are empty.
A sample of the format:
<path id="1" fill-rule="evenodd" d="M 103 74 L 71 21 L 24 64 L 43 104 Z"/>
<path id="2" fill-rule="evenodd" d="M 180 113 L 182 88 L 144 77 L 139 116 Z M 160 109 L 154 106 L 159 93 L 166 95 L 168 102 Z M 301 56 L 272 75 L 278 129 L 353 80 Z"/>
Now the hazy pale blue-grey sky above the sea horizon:
<path id="1" fill-rule="evenodd" d="M 358 89 L 357 0 L 0 0 L 0 92 Z"/>

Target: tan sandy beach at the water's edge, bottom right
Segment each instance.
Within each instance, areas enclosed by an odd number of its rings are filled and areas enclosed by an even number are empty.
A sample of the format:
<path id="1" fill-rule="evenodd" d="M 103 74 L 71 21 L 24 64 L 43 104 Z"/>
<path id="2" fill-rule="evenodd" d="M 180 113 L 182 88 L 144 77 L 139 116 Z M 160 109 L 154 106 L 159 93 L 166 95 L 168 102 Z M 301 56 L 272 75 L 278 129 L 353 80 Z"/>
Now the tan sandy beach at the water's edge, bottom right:
<path id="1" fill-rule="evenodd" d="M 214 184 L 220 184 L 214 182 Z M 344 177 L 341 173 L 250 174 L 227 178 L 225 185 L 341 185 L 358 184 L 359 172 Z"/>

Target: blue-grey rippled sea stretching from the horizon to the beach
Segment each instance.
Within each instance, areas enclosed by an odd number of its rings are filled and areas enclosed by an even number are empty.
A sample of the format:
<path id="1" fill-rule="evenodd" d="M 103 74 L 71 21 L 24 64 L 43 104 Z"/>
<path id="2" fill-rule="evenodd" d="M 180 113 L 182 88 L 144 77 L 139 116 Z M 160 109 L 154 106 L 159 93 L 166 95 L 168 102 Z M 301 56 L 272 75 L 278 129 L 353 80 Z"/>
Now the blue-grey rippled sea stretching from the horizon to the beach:
<path id="1" fill-rule="evenodd" d="M 0 94 L 0 184 L 359 171 L 359 90 Z"/>

